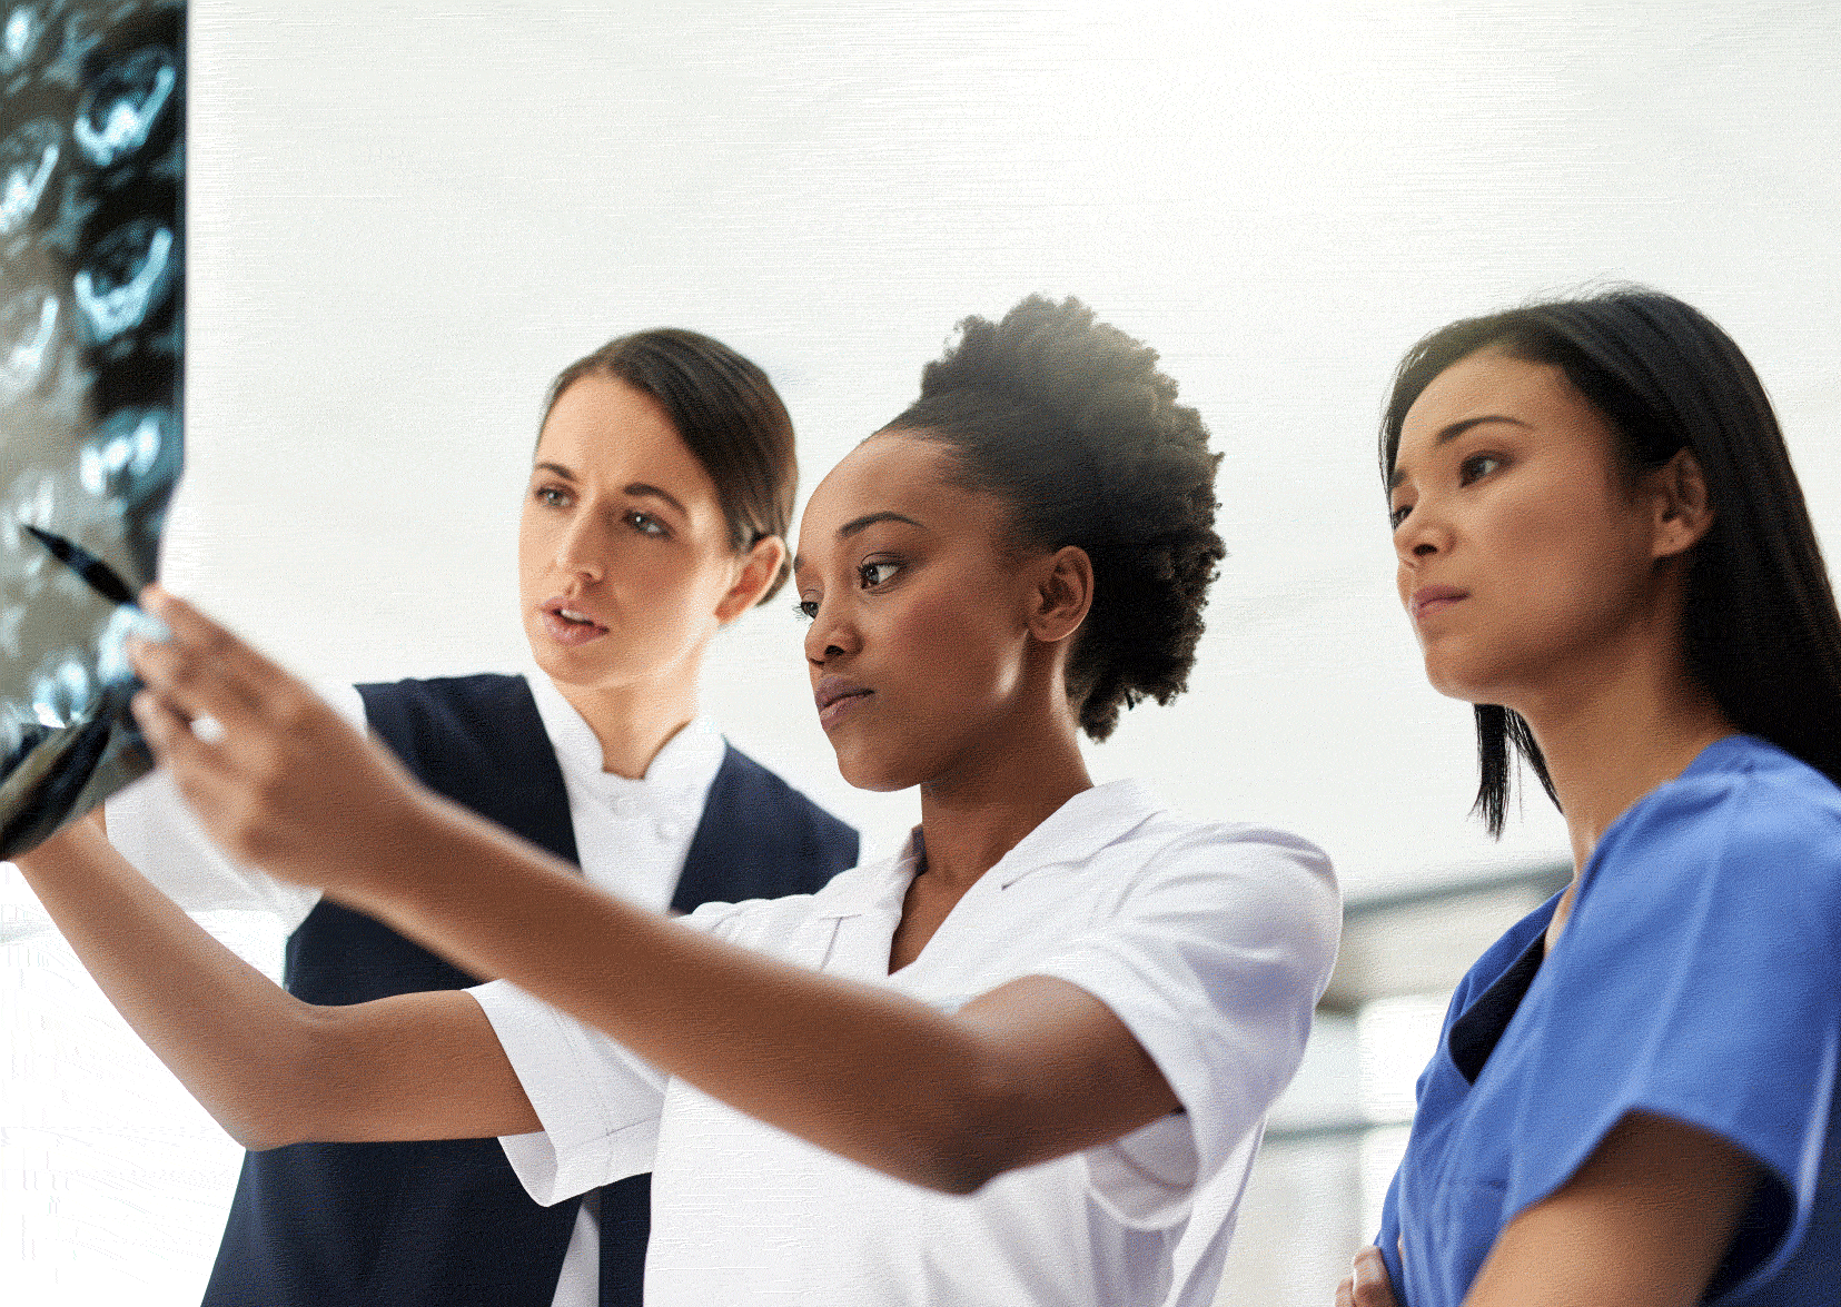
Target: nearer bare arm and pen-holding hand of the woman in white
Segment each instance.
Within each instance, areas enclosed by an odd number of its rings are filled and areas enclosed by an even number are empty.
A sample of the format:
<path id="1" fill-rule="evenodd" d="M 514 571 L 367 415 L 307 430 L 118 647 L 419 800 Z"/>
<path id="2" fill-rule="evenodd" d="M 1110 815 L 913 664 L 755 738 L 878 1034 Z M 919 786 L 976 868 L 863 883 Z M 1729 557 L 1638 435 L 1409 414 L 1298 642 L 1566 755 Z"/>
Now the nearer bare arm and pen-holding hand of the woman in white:
<path id="1" fill-rule="evenodd" d="M 1176 1108 L 1132 1033 L 1075 985 L 1022 977 L 946 1016 L 620 904 L 416 786 L 201 613 L 147 602 L 173 642 L 136 646 L 136 712 L 232 856 L 504 976 L 751 1116 L 963 1193 Z M 204 716 L 219 740 L 193 733 Z"/>

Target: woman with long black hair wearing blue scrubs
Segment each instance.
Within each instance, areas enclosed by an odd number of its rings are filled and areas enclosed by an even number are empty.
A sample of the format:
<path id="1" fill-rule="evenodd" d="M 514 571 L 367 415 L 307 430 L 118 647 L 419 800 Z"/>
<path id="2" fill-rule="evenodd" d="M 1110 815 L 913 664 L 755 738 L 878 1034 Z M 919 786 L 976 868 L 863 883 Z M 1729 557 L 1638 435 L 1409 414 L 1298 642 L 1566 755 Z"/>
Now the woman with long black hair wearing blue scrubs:
<path id="1" fill-rule="evenodd" d="M 1338 1301 L 1841 1300 L 1841 620 L 1762 385 L 1670 296 L 1537 304 L 1407 355 L 1381 462 L 1478 810 L 1513 747 L 1576 874 L 1458 985 Z"/>

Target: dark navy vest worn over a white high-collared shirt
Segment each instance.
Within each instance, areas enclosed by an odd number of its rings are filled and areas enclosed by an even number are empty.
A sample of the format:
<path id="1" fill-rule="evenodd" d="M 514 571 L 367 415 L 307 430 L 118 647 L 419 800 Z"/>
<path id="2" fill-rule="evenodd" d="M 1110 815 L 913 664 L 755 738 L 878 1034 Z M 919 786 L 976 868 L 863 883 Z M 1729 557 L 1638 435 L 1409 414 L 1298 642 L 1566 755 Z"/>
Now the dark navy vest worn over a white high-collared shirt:
<path id="1" fill-rule="evenodd" d="M 523 677 L 359 694 L 370 729 L 423 784 L 576 862 L 562 768 Z M 672 908 L 812 893 L 856 865 L 856 849 L 854 830 L 731 747 Z M 287 941 L 287 989 L 309 1003 L 481 979 L 330 900 Z M 549 1307 L 576 1206 L 532 1202 L 497 1139 L 250 1152 L 204 1307 Z M 600 1191 L 602 1307 L 639 1307 L 648 1228 L 650 1176 Z"/>

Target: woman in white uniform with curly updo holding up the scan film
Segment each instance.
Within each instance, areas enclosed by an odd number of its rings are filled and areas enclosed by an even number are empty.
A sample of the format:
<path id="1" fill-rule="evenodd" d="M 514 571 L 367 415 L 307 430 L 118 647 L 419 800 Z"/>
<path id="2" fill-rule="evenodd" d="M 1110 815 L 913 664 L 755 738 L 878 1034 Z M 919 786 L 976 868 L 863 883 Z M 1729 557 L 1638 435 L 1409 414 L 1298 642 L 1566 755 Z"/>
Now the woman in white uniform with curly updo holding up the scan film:
<path id="1" fill-rule="evenodd" d="M 920 786 L 897 858 L 661 919 L 153 593 L 142 722 L 206 828 L 510 983 L 304 1007 L 81 838 L 29 874 L 258 1147 L 495 1132 L 539 1198 L 655 1165 L 652 1307 L 1208 1303 L 1232 1202 L 1197 1195 L 1245 1180 L 1338 913 L 1311 845 L 1081 758 L 1184 688 L 1222 554 L 1215 455 L 1154 359 L 1073 300 L 968 318 L 814 492 L 814 701 L 852 784 Z"/>

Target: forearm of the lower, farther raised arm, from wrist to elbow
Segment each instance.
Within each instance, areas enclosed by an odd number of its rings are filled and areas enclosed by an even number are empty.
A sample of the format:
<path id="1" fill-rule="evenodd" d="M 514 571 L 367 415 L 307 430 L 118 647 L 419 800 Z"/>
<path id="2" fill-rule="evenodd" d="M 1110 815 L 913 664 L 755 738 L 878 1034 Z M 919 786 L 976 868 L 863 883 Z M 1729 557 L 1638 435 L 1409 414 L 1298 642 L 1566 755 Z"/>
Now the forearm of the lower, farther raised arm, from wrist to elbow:
<path id="1" fill-rule="evenodd" d="M 136 1035 L 237 1141 L 285 1141 L 311 1079 L 313 1011 L 217 943 L 92 821 L 18 867 Z"/>

